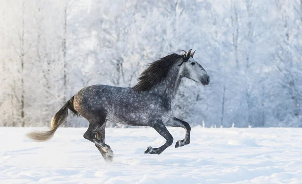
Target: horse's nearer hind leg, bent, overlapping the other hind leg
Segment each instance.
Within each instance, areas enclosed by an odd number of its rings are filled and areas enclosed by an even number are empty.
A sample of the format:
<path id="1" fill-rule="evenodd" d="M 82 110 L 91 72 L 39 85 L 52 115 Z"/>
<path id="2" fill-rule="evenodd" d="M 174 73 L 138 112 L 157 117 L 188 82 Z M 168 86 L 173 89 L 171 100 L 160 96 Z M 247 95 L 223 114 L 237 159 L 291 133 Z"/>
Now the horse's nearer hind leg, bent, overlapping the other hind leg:
<path id="1" fill-rule="evenodd" d="M 113 158 L 113 152 L 112 152 L 110 146 L 108 146 L 107 144 L 105 144 L 104 142 L 102 142 L 96 138 L 97 132 L 100 130 L 100 128 L 102 127 L 102 125 L 104 123 L 105 123 L 105 120 L 101 124 L 93 122 L 93 121 L 89 122 L 89 127 L 88 127 L 87 131 L 84 133 L 83 137 L 85 139 L 95 143 L 97 146 L 100 147 L 100 149 L 102 149 L 102 151 L 105 154 L 110 155 Z"/>

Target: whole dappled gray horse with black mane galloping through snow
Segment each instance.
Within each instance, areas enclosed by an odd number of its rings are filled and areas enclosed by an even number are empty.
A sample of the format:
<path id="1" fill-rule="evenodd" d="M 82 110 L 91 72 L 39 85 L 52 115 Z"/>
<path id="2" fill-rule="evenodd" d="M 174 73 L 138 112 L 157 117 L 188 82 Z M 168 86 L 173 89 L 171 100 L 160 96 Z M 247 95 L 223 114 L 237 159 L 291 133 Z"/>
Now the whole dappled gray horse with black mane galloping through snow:
<path id="1" fill-rule="evenodd" d="M 192 50 L 192 49 L 191 49 Z M 53 116 L 51 129 L 32 132 L 28 136 L 37 141 L 50 139 L 64 123 L 68 109 L 89 122 L 84 138 L 93 142 L 107 162 L 113 160 L 113 152 L 105 144 L 106 121 L 125 125 L 150 126 L 167 141 L 159 148 L 148 147 L 144 153 L 161 154 L 173 143 L 166 126 L 182 127 L 186 130 L 183 140 L 175 147 L 190 143 L 190 125 L 174 117 L 175 95 L 183 77 L 209 85 L 210 77 L 193 58 L 191 50 L 184 55 L 170 54 L 149 65 L 140 75 L 134 87 L 92 85 L 81 89 Z"/>

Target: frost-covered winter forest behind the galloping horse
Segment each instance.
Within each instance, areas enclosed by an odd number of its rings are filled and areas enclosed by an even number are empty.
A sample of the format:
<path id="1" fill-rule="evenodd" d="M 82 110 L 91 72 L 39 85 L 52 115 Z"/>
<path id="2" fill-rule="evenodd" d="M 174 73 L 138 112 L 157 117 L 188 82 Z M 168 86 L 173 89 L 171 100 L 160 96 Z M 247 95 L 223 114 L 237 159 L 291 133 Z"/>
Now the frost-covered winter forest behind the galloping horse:
<path id="1" fill-rule="evenodd" d="M 211 84 L 182 80 L 178 118 L 302 127 L 301 30 L 302 0 L 4 0 L 0 125 L 49 126 L 81 88 L 133 86 L 148 63 L 192 48 Z"/>

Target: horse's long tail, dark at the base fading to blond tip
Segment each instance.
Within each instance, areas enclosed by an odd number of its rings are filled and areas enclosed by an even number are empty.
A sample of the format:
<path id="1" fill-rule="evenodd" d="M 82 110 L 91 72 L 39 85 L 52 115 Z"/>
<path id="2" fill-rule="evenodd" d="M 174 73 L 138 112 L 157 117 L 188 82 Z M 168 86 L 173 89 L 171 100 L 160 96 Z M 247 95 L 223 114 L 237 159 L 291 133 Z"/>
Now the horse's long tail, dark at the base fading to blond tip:
<path id="1" fill-rule="evenodd" d="M 65 122 L 68 116 L 68 109 L 70 109 L 74 115 L 79 115 L 73 107 L 73 99 L 74 96 L 69 101 L 67 101 L 67 103 L 52 117 L 49 131 L 30 132 L 27 134 L 27 136 L 36 141 L 47 141 L 51 139 L 55 131 L 59 128 L 59 126 Z"/>

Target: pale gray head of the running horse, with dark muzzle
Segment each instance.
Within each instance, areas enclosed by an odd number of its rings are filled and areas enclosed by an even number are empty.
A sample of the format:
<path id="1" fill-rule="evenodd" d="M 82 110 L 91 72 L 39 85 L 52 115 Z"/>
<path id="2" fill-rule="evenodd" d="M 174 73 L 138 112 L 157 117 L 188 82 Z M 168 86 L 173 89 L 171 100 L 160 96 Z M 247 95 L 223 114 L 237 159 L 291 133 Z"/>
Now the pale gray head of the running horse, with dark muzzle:
<path id="1" fill-rule="evenodd" d="M 179 65 L 181 75 L 195 82 L 202 83 L 202 85 L 210 84 L 210 76 L 207 74 L 205 69 L 193 58 L 194 52 L 192 49 L 186 52 L 182 58 L 181 64 Z"/>

